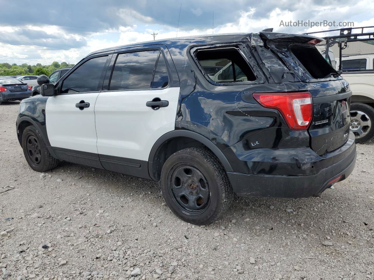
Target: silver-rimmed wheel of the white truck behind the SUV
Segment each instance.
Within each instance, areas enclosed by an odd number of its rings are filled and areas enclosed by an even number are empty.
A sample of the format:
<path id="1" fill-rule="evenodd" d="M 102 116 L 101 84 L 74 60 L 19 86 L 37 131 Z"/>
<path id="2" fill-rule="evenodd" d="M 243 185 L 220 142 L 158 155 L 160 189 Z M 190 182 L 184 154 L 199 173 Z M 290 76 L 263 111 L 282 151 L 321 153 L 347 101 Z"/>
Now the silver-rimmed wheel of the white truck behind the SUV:
<path id="1" fill-rule="evenodd" d="M 351 103 L 350 130 L 356 136 L 356 143 L 368 143 L 374 138 L 374 109 L 364 103 Z"/>

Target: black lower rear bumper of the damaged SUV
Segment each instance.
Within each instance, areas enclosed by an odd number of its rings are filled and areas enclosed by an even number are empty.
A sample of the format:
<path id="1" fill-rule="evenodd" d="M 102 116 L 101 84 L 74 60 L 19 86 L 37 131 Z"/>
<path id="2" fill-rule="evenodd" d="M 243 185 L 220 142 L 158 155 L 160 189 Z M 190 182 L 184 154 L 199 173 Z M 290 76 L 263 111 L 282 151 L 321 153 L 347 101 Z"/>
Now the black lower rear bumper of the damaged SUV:
<path id="1" fill-rule="evenodd" d="M 352 134 L 352 133 L 351 133 Z M 324 159 L 331 162 L 337 159 L 334 164 L 330 164 L 312 175 L 285 176 L 266 174 L 243 174 L 227 172 L 233 191 L 239 196 L 254 197 L 309 197 L 318 195 L 332 184 L 347 178 L 355 168 L 356 145 L 354 136 L 349 140 L 332 158 Z M 344 157 L 341 158 L 340 154 Z"/>

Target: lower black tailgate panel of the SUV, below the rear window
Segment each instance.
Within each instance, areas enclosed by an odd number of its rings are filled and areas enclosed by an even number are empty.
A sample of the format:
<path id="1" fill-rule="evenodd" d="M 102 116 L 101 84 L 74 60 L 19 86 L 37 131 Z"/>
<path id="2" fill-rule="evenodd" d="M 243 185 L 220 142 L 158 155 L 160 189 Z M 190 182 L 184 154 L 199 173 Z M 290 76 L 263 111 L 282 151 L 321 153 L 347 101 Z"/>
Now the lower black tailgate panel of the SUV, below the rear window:
<path id="1" fill-rule="evenodd" d="M 344 80 L 340 80 L 308 84 L 313 97 L 310 147 L 318 155 L 343 146 L 349 138 L 352 92 L 346 89 L 344 83 Z"/>

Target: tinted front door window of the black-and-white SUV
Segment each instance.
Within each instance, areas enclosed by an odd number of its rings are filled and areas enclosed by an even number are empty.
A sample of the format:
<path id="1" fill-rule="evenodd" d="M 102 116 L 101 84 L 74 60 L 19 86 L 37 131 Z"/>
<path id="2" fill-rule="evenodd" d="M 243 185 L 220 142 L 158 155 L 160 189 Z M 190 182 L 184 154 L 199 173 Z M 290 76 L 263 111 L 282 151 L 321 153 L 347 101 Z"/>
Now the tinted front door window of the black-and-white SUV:
<path id="1" fill-rule="evenodd" d="M 107 56 L 87 60 L 67 77 L 61 87 L 61 93 L 98 91 L 102 87 L 102 73 Z"/>

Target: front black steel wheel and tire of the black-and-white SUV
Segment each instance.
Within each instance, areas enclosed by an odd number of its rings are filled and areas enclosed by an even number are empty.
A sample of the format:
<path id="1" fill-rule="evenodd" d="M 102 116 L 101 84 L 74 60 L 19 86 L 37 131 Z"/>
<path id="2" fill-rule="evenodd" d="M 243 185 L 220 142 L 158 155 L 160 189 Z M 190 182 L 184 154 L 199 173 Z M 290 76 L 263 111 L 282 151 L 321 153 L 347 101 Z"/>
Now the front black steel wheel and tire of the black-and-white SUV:
<path id="1" fill-rule="evenodd" d="M 58 165 L 58 159 L 50 155 L 42 135 L 34 125 L 26 127 L 23 131 L 22 149 L 27 163 L 35 171 L 45 172 Z"/>

